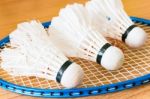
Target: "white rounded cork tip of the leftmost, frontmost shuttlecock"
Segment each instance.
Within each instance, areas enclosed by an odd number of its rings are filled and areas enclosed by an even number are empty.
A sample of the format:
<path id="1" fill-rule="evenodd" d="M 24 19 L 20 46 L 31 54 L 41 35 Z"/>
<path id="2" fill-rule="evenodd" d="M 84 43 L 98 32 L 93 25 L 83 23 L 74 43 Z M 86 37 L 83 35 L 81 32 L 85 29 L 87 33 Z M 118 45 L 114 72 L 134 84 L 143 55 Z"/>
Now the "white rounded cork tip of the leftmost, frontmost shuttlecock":
<path id="1" fill-rule="evenodd" d="M 66 88 L 74 88 L 83 80 L 84 72 L 80 65 L 72 63 L 64 72 L 61 84 Z"/>

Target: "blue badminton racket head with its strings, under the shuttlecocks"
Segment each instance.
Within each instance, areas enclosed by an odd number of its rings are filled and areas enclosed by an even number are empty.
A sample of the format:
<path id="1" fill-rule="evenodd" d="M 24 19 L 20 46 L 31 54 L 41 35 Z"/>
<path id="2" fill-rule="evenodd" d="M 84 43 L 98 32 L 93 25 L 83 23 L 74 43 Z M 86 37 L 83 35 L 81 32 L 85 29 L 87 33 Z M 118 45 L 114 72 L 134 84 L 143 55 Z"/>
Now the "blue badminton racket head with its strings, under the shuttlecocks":
<path id="1" fill-rule="evenodd" d="M 131 17 L 136 24 L 145 29 L 150 38 L 150 20 Z M 43 23 L 48 28 L 50 22 Z M 125 44 L 110 40 L 125 53 L 124 66 L 116 71 L 107 71 L 95 62 L 80 58 L 70 58 L 80 64 L 85 72 L 83 83 L 78 88 L 64 89 L 58 83 L 37 77 L 13 77 L 0 69 L 0 87 L 19 94 L 47 97 L 71 98 L 121 91 L 150 82 L 150 41 L 140 49 L 130 49 Z M 0 41 L 3 48 L 9 43 L 9 36 Z"/>

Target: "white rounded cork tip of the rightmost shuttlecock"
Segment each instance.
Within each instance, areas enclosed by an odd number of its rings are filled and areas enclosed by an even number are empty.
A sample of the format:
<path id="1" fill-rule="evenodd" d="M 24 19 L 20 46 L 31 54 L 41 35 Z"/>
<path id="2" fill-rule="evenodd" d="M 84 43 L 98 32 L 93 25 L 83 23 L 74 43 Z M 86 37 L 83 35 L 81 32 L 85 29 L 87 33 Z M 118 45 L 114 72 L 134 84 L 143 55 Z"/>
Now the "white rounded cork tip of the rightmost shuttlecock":
<path id="1" fill-rule="evenodd" d="M 144 45 L 146 39 L 146 32 L 140 27 L 135 27 L 129 32 L 125 43 L 131 48 L 139 48 Z"/>

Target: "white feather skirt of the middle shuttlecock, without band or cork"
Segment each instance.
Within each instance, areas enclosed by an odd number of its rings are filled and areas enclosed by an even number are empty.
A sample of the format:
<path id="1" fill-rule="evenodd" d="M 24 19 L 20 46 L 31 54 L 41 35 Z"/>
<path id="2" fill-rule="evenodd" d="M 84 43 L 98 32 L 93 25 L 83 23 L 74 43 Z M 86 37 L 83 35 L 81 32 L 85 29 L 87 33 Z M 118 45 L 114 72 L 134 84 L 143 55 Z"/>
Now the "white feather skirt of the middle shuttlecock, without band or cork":
<path id="1" fill-rule="evenodd" d="M 94 29 L 88 11 L 80 4 L 67 5 L 61 9 L 59 16 L 52 19 L 49 35 L 53 43 L 67 56 L 94 62 L 100 49 L 108 43 Z"/>

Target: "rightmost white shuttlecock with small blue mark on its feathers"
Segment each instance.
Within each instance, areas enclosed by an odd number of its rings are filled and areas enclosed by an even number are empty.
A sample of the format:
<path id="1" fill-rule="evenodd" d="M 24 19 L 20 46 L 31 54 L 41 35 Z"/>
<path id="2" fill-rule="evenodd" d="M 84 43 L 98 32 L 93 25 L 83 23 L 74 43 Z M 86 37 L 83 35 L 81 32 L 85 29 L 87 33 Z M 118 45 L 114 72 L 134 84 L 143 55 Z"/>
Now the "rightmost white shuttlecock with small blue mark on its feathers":
<path id="1" fill-rule="evenodd" d="M 91 0 L 86 8 L 94 26 L 106 37 L 122 40 L 129 47 L 141 47 L 147 38 L 145 31 L 134 25 L 123 8 L 121 0 Z"/>

